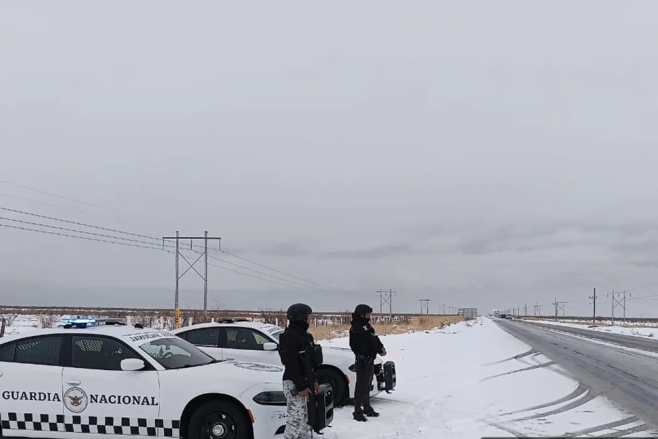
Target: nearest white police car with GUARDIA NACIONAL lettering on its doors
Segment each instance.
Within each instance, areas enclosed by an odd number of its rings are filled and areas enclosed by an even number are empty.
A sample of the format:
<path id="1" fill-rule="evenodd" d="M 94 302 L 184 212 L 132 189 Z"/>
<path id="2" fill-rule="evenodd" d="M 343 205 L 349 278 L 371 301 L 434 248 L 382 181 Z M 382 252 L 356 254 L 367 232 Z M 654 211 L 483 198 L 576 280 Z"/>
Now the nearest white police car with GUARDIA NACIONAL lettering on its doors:
<path id="1" fill-rule="evenodd" d="M 91 325 L 0 338 L 0 436 L 272 438 L 283 368 L 218 361 L 170 332 Z"/>

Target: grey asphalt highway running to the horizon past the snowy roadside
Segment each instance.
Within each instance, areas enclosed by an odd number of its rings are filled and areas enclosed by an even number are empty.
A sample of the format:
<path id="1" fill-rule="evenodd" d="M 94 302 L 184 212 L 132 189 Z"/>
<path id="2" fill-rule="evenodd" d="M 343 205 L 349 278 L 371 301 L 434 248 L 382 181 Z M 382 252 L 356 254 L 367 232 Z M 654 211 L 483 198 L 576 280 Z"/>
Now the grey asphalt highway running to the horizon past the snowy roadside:
<path id="1" fill-rule="evenodd" d="M 642 430 L 658 430 L 658 358 L 569 334 L 653 352 L 658 352 L 658 341 L 518 320 L 494 321 L 562 366 L 578 382 L 636 415 L 645 423 Z"/>

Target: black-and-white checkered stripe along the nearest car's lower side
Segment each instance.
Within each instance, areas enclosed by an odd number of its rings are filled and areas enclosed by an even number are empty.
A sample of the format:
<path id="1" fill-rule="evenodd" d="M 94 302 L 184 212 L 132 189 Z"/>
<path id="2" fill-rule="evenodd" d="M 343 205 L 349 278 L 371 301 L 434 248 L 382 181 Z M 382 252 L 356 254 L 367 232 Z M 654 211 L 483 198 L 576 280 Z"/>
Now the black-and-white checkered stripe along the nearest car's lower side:
<path id="1" fill-rule="evenodd" d="M 6 436 L 11 436 L 7 430 L 32 430 L 180 437 L 180 421 L 168 419 L 0 413 L 0 425 Z"/>

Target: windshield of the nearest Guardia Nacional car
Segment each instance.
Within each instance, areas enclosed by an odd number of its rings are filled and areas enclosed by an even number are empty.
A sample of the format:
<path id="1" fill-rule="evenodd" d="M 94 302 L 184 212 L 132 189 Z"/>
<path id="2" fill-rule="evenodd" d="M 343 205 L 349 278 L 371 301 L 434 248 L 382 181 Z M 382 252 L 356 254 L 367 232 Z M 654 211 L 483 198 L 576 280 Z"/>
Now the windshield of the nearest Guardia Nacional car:
<path id="1" fill-rule="evenodd" d="M 216 363 L 207 353 L 179 337 L 166 337 L 151 340 L 139 345 L 139 349 L 166 369 L 205 366 Z"/>

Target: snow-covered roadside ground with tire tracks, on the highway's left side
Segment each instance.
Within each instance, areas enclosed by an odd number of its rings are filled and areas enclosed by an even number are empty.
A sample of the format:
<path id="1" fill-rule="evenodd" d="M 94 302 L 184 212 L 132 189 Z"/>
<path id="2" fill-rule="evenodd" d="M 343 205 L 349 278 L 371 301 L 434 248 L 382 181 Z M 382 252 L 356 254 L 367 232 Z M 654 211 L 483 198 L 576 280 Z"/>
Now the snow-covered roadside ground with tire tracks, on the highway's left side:
<path id="1" fill-rule="evenodd" d="M 38 331 L 35 316 L 18 316 L 7 334 Z M 382 336 L 395 361 L 397 388 L 372 405 L 382 414 L 357 423 L 336 409 L 327 439 L 603 436 L 641 424 L 604 397 L 568 378 L 540 353 L 480 317 L 441 330 Z M 347 338 L 322 341 L 347 347 Z M 516 359 L 514 357 L 517 357 Z M 609 426 L 606 428 L 606 426 Z M 647 432 L 623 437 L 647 436 Z"/>

